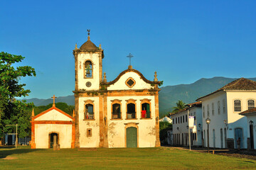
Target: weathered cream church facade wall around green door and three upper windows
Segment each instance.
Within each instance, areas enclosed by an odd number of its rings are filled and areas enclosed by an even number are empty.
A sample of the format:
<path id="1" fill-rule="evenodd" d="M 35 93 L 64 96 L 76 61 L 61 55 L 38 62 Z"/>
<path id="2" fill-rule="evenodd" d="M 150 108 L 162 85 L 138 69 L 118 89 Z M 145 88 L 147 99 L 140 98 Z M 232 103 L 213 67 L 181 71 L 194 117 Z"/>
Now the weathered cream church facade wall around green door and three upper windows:
<path id="1" fill-rule="evenodd" d="M 130 98 L 137 100 L 137 119 L 127 120 L 127 101 Z M 141 101 L 147 98 L 151 100 L 151 119 L 141 119 Z M 121 100 L 122 120 L 111 120 L 111 104 L 114 99 Z M 107 122 L 109 147 L 125 147 L 125 123 L 138 123 L 139 147 L 155 147 L 156 142 L 156 116 L 154 96 L 116 96 L 107 97 Z"/>

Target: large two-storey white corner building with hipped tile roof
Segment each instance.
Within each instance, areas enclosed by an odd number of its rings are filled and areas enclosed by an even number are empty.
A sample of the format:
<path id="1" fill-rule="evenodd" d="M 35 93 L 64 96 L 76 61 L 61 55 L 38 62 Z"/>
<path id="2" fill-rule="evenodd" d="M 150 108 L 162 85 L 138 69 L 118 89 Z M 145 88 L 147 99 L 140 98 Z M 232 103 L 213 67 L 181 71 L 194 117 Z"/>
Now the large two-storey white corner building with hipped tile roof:
<path id="1" fill-rule="evenodd" d="M 247 118 L 239 115 L 255 107 L 256 82 L 237 79 L 211 94 L 198 98 L 203 110 L 203 138 L 207 145 L 206 118 L 210 118 L 209 145 L 217 148 L 247 148 Z"/>

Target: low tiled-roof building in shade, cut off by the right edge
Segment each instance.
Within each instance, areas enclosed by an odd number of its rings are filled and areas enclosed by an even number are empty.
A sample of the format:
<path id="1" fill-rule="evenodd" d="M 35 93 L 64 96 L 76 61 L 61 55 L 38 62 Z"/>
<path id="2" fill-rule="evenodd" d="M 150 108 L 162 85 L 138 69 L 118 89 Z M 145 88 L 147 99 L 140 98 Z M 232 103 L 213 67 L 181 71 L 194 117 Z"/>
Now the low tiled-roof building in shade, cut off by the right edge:
<path id="1" fill-rule="evenodd" d="M 239 113 L 247 118 L 247 137 L 250 137 L 250 149 L 256 147 L 256 108 L 250 108 L 247 111 Z"/>

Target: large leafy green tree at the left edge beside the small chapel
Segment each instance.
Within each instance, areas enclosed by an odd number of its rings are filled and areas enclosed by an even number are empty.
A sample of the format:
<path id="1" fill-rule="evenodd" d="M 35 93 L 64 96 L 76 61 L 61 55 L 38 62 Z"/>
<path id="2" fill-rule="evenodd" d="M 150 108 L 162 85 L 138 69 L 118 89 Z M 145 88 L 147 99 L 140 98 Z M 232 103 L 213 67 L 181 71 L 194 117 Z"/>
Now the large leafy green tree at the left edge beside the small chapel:
<path id="1" fill-rule="evenodd" d="M 24 89 L 26 84 L 20 84 L 21 77 L 36 76 L 35 69 L 30 66 L 14 67 L 14 64 L 21 62 L 25 57 L 11 55 L 7 52 L 0 53 L 0 137 L 10 132 L 11 127 L 6 124 L 18 124 L 19 137 L 25 137 L 30 130 L 31 113 L 28 108 L 33 104 L 26 101 L 17 101 L 17 97 L 25 97 L 31 92 Z"/>

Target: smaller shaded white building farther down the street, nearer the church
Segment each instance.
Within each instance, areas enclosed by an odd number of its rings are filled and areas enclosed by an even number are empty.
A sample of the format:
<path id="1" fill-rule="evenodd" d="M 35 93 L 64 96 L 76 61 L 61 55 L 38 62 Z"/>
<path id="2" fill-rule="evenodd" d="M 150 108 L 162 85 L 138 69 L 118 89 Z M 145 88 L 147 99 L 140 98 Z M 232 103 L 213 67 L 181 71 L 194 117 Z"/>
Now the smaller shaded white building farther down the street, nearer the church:
<path id="1" fill-rule="evenodd" d="M 188 146 L 188 114 L 194 116 L 195 125 L 190 130 L 191 146 L 202 145 L 202 111 L 201 102 L 190 103 L 181 111 L 171 114 L 173 121 L 174 145 Z"/>

